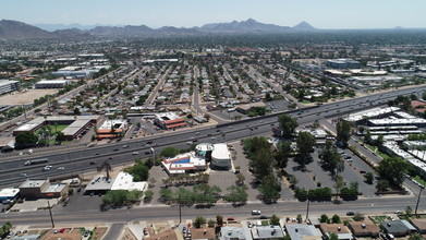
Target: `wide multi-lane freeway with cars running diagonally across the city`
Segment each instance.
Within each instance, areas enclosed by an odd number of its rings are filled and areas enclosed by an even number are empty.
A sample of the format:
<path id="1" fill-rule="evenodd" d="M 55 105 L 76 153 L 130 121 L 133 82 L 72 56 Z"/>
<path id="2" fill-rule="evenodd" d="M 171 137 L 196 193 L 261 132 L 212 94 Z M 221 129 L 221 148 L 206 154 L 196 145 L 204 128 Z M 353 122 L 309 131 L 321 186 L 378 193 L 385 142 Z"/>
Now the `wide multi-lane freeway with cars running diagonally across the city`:
<path id="1" fill-rule="evenodd" d="M 297 118 L 297 122 L 303 124 L 332 116 L 344 115 L 373 106 L 382 105 L 388 99 L 394 98 L 398 95 L 409 95 L 413 92 L 424 91 L 426 91 L 426 87 L 399 89 L 392 93 L 376 94 L 355 99 L 342 100 L 316 106 L 309 109 L 292 110 L 288 113 L 293 118 Z M 278 116 L 279 113 L 273 113 L 261 118 L 228 122 L 216 127 L 187 129 L 183 131 L 169 132 L 161 135 L 154 135 L 146 139 L 133 139 L 101 146 L 80 147 L 70 151 L 63 149 L 54 153 L 47 153 L 46 155 L 31 155 L 25 157 L 1 159 L 0 187 L 17 185 L 27 178 L 46 178 L 93 170 L 102 160 L 109 157 L 112 157 L 111 164 L 120 164 L 130 161 L 135 157 L 150 156 L 145 155 L 145 152 L 148 152 L 150 148 L 150 146 L 146 144 L 148 142 L 157 144 L 157 146 L 154 148 L 158 154 L 160 153 L 161 148 L 166 146 L 174 146 L 179 148 L 187 147 L 188 145 L 186 143 L 191 141 L 191 137 L 198 139 L 198 142 L 217 143 L 239 140 L 251 136 L 252 134 L 270 132 L 271 124 L 278 123 Z M 199 132 L 199 134 L 196 134 L 195 132 Z M 224 136 L 222 136 L 222 132 L 226 133 Z M 129 147 L 123 148 L 123 145 L 127 145 Z M 138 156 L 132 156 L 132 153 L 135 151 L 139 152 Z M 42 157 L 49 158 L 49 165 L 52 165 L 52 170 L 42 171 L 44 165 L 24 166 L 24 163 L 28 159 L 37 159 Z M 96 165 L 89 165 L 90 161 L 96 161 Z M 58 167 L 64 167 L 65 169 L 59 170 Z M 23 173 L 26 173 L 26 176 L 23 176 Z"/>

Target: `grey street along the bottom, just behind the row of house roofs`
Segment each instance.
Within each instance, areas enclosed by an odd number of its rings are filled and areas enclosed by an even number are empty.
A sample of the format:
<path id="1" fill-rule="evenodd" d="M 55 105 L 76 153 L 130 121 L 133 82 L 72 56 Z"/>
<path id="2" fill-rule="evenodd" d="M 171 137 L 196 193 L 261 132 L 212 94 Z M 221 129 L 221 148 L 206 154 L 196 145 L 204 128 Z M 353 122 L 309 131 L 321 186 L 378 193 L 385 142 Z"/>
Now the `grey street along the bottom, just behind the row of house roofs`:
<path id="1" fill-rule="evenodd" d="M 425 194 L 423 194 L 425 197 Z M 363 214 L 374 213 L 393 213 L 394 211 L 403 211 L 406 206 L 415 208 L 416 196 L 406 197 L 377 197 L 377 199 L 361 199 L 353 202 L 311 202 L 309 216 L 319 216 L 322 213 L 342 214 L 346 212 L 360 212 Z M 302 214 L 305 217 L 306 202 L 280 202 L 277 204 L 248 203 L 241 207 L 233 207 L 229 204 L 218 204 L 211 208 L 195 208 L 182 207 L 182 219 L 194 219 L 196 216 L 214 218 L 216 215 L 223 217 L 245 218 L 251 215 L 252 209 L 261 211 L 263 215 L 271 216 L 277 214 L 280 217 L 294 217 Z M 426 208 L 426 201 L 421 201 L 419 207 L 422 212 Z M 99 209 L 84 211 L 68 211 L 64 208 L 53 208 L 53 219 L 56 224 L 84 224 L 84 223 L 115 223 L 123 224 L 135 220 L 168 220 L 179 219 L 178 206 L 146 206 L 133 208 L 117 208 L 106 212 Z M 37 225 L 50 226 L 48 211 L 26 212 L 26 213 L 7 213 L 0 215 L 0 224 L 10 220 L 14 225 Z"/>

